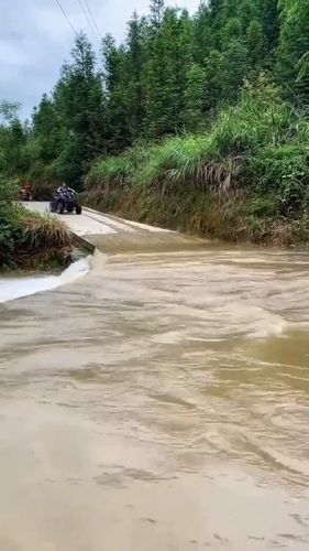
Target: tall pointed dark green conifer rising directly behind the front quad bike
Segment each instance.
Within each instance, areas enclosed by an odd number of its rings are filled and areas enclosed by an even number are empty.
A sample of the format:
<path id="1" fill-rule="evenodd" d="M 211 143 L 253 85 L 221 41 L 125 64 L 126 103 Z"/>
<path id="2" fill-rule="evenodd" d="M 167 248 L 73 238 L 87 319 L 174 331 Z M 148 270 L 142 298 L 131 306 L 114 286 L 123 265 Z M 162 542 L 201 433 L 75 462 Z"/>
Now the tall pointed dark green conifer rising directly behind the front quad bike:
<path id="1" fill-rule="evenodd" d="M 54 104 L 63 120 L 58 176 L 76 187 L 89 161 L 102 151 L 104 136 L 103 91 L 96 72 L 96 57 L 85 34 L 79 34 L 54 91 Z"/>

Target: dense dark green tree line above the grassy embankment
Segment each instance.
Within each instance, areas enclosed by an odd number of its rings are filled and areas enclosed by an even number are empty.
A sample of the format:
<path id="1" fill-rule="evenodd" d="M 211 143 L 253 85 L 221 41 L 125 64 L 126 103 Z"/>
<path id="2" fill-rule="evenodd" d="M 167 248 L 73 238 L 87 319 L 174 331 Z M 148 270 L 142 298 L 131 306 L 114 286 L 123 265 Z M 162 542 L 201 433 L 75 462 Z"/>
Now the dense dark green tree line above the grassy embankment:
<path id="1" fill-rule="evenodd" d="M 209 0 L 192 17 L 152 0 L 96 58 L 82 33 L 30 123 L 0 105 L 0 172 L 82 187 L 99 155 L 184 131 L 203 133 L 264 73 L 283 99 L 309 106 L 308 0 Z"/>

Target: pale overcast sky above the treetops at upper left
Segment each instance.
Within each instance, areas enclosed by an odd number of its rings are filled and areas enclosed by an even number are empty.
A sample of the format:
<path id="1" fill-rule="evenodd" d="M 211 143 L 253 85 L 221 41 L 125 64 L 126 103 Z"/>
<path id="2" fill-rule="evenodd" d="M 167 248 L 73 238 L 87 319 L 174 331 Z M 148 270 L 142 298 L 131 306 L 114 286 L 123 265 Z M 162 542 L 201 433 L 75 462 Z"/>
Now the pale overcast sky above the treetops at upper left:
<path id="1" fill-rule="evenodd" d="M 74 28 L 84 30 L 98 50 L 98 39 L 79 1 L 85 6 L 85 0 L 59 0 Z M 194 12 L 200 0 L 166 3 Z M 145 14 L 148 4 L 150 0 L 88 0 L 101 34 L 111 32 L 118 41 L 124 36 L 131 13 L 136 10 Z M 56 0 L 0 0 L 0 100 L 21 101 L 21 115 L 25 117 L 42 94 L 54 86 L 71 50 L 74 33 Z"/>

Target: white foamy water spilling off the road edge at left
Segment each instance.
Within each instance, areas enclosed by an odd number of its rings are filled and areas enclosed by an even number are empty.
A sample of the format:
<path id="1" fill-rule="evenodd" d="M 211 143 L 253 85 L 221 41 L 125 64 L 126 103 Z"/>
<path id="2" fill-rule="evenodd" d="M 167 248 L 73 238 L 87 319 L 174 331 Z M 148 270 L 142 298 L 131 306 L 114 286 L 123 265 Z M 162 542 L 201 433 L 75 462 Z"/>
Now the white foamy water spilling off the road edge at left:
<path id="1" fill-rule="evenodd" d="M 90 258 L 81 258 L 70 264 L 59 276 L 35 276 L 0 278 L 0 303 L 29 296 L 42 291 L 51 291 L 59 285 L 71 283 L 89 272 Z"/>

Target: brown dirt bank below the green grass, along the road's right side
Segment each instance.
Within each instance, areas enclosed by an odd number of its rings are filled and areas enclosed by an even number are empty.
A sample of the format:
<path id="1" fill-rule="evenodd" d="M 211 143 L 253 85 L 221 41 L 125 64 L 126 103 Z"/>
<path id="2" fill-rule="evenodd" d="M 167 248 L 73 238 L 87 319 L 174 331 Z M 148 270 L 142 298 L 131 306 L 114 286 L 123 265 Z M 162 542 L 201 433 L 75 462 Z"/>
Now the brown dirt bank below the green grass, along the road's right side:
<path id="1" fill-rule="evenodd" d="M 256 217 L 253 210 L 258 199 L 244 194 L 230 198 L 198 192 L 162 196 L 115 186 L 84 193 L 82 201 L 101 212 L 211 239 L 278 247 L 309 242 L 307 217 Z"/>

